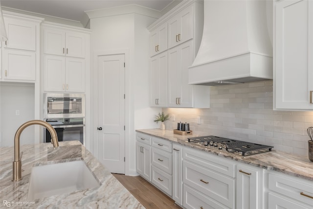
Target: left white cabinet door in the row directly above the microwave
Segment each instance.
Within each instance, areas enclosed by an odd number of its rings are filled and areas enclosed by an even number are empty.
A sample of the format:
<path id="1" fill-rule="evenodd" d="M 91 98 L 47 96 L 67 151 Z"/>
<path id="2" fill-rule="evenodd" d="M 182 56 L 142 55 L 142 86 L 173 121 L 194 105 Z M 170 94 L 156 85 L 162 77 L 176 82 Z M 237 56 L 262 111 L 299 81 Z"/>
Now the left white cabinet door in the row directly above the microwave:
<path id="1" fill-rule="evenodd" d="M 44 56 L 45 91 L 65 91 L 65 57 L 55 55 Z"/>

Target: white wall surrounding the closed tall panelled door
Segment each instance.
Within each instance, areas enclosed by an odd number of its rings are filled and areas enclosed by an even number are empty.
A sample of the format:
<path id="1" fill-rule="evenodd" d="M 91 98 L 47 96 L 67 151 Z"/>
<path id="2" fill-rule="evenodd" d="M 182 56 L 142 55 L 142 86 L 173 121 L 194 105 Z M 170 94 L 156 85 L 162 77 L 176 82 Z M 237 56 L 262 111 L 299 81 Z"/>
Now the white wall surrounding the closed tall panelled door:
<path id="1" fill-rule="evenodd" d="M 153 116 L 159 111 L 149 107 L 149 32 L 155 21 L 134 13 L 90 19 L 91 60 L 97 54 L 126 52 L 126 136 L 127 175 L 135 174 L 135 129 L 154 127 Z M 91 93 L 95 92 L 97 69 L 91 67 Z M 96 95 L 91 95 L 94 101 Z M 96 114 L 97 110 L 93 110 Z M 152 118 L 151 118 L 152 116 Z M 93 120 L 93 123 L 96 123 Z M 96 127 L 97 124 L 93 124 Z M 93 140 L 96 139 L 94 132 Z M 94 152 L 95 150 L 93 150 Z"/>

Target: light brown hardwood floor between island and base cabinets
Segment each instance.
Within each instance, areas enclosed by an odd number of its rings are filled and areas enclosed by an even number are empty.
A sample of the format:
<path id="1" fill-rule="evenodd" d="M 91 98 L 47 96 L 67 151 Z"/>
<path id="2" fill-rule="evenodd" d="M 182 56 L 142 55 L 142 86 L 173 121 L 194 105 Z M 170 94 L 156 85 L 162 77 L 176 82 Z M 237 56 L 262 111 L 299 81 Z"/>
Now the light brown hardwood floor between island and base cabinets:
<path id="1" fill-rule="evenodd" d="M 174 200 L 141 176 L 112 174 L 146 209 L 181 209 Z"/>

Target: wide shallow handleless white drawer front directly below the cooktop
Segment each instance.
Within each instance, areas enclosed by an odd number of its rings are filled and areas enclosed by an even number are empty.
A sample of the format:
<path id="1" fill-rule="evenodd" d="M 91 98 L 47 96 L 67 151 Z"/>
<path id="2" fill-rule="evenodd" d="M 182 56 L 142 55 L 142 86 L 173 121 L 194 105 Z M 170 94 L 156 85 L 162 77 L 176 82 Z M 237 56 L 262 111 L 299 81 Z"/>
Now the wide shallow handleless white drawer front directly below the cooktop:
<path id="1" fill-rule="evenodd" d="M 221 157 L 217 157 L 210 153 L 205 153 L 199 150 L 185 148 L 183 150 L 183 159 L 235 178 L 235 164 L 230 163 L 230 161 L 224 161 Z"/>

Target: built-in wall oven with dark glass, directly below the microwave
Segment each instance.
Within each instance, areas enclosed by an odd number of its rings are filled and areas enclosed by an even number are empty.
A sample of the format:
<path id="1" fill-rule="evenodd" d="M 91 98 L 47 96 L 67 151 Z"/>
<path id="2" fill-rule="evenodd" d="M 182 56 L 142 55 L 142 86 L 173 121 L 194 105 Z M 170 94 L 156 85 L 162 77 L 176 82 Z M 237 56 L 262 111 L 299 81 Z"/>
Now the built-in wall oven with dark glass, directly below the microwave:
<path id="1" fill-rule="evenodd" d="M 57 132 L 59 141 L 79 140 L 85 144 L 85 118 L 47 118 L 45 119 Z M 51 142 L 48 130 L 44 132 L 44 142 Z"/>

